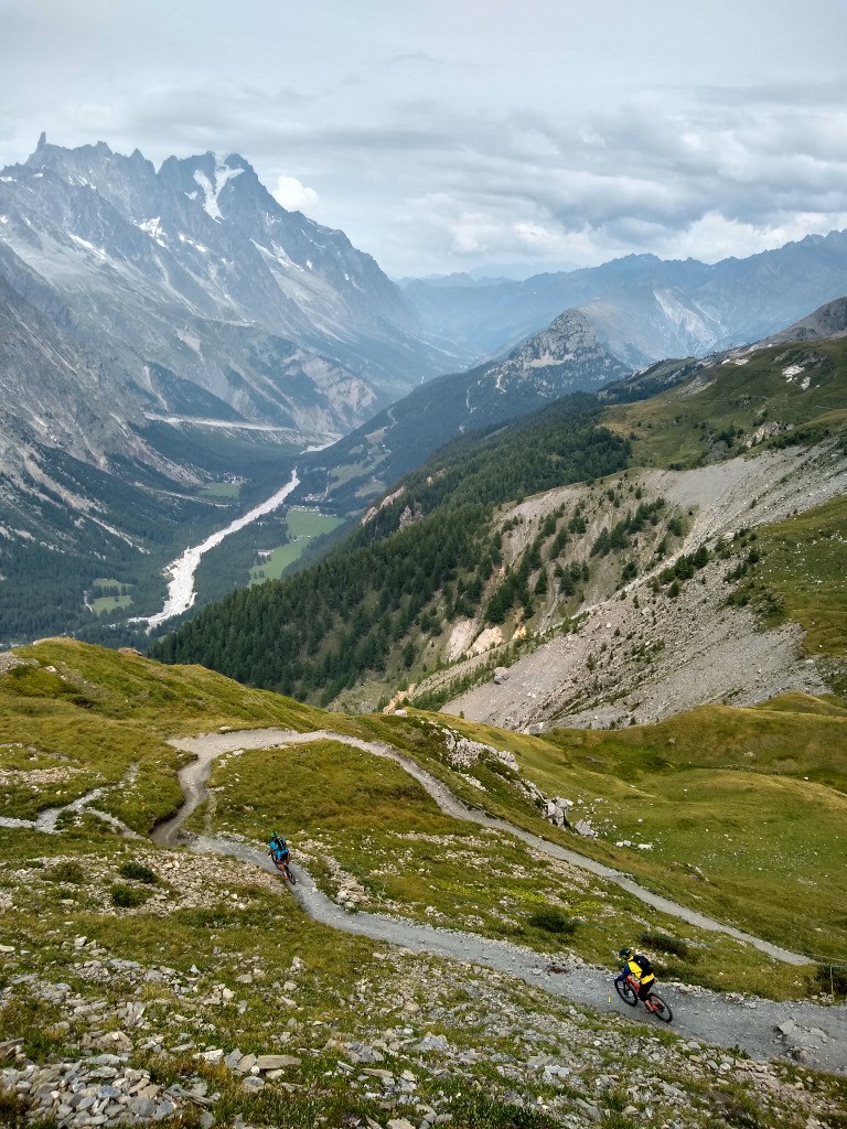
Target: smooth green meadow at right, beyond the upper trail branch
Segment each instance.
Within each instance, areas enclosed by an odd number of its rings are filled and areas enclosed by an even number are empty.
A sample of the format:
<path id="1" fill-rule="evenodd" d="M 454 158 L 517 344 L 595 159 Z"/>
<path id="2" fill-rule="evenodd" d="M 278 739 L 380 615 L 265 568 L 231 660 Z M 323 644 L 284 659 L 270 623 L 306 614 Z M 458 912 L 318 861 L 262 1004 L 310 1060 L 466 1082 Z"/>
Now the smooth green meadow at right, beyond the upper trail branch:
<path id="1" fill-rule="evenodd" d="M 451 720 L 506 747 L 497 730 Z M 559 729 L 508 747 L 529 779 L 573 800 L 573 817 L 601 832 L 580 842 L 584 854 L 775 944 L 845 960 L 840 706 L 797 694 L 752 709 L 701 707 L 625 730 Z M 521 821 L 508 794 L 500 805 Z M 631 846 L 614 846 L 625 840 Z"/>

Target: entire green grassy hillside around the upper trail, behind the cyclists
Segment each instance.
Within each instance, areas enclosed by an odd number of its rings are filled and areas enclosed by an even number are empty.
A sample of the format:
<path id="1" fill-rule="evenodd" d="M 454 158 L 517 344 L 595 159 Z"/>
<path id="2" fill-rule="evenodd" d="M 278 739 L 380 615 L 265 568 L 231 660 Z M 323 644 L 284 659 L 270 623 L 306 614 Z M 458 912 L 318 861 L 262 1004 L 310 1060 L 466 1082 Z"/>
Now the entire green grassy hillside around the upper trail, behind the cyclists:
<path id="1" fill-rule="evenodd" d="M 334 729 L 390 742 L 468 802 L 742 929 L 829 961 L 847 947 L 847 709 L 833 702 L 794 695 L 767 708 L 705 707 L 656 726 L 541 738 L 417 711 L 328 715 L 201 667 L 69 640 L 16 654 L 24 664 L 0 679 L 0 815 L 34 819 L 99 788 L 96 808 L 146 834 L 180 803 L 183 754 L 167 737 L 224 727 Z M 459 771 L 447 730 L 510 751 L 530 780 L 571 799 L 600 837 L 582 839 L 542 821 L 514 772 L 490 756 Z M 338 742 L 226 754 L 210 785 L 212 802 L 193 816 L 197 830 L 256 846 L 279 830 L 330 895 L 347 885 L 361 908 L 542 952 L 573 951 L 609 966 L 623 942 L 671 937 L 687 943 L 686 955 L 658 953 L 664 977 L 777 998 L 818 990 L 809 970 L 778 965 L 518 840 L 444 815 L 399 765 Z M 59 837 L 0 829 L 7 866 L 24 856 L 45 864 L 51 856 L 119 860 L 126 852 L 96 814 L 63 819 Z M 653 846 L 614 846 L 625 839 Z M 145 849 L 156 870 L 157 848 Z M 103 882 L 111 889 L 120 878 Z M 58 896 L 59 887 L 71 894 Z M 50 884 L 46 902 L 33 901 L 34 916 L 41 920 L 47 904 L 82 912 L 73 889 Z M 90 928 L 87 919 L 79 925 Z"/>

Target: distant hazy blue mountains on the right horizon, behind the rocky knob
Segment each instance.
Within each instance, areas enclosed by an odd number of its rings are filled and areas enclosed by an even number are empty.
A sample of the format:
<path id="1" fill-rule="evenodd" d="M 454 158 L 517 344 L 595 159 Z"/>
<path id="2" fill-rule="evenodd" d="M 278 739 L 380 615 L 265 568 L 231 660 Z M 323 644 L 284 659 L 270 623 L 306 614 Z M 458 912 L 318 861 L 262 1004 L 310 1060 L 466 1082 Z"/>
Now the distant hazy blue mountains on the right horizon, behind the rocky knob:
<path id="1" fill-rule="evenodd" d="M 486 358 L 577 308 L 630 368 L 759 341 L 846 291 L 847 231 L 714 264 L 644 254 L 524 281 L 403 281 L 445 348 Z"/>

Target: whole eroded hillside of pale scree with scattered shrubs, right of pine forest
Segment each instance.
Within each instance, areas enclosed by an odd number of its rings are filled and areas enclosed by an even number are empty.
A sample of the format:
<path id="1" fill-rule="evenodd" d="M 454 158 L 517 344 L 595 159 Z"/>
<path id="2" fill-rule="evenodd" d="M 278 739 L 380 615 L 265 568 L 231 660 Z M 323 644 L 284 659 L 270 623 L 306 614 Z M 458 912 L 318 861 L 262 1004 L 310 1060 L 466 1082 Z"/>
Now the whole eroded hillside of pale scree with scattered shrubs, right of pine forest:
<path id="1" fill-rule="evenodd" d="M 532 540 L 549 514 L 564 506 L 566 520 L 579 508 L 590 524 L 573 553 L 591 560 L 602 530 L 613 528 L 621 509 L 609 502 L 609 493 L 618 498 L 629 491 L 639 493 L 640 505 L 663 499 L 664 513 L 681 515 L 684 535 L 661 555 L 655 533 L 639 533 L 610 552 L 604 571 L 594 574 L 593 589 L 586 585 L 578 619 L 567 624 L 574 630 L 540 640 L 508 669 L 451 698 L 448 712 L 509 728 L 629 725 L 701 702 L 748 704 L 786 690 L 828 688 L 831 668 L 818 662 L 818 648 L 806 654 L 798 623 L 762 630 L 754 606 L 727 597 L 751 553 L 758 559 L 757 528 L 814 510 L 847 491 L 847 456 L 839 446 L 789 448 L 691 471 L 630 470 L 626 479 L 530 499 L 507 520 L 517 518 Z M 836 520 L 838 527 L 844 528 Z M 801 559 L 797 569 L 803 567 Z M 549 622 L 557 622 L 557 597 L 547 597 Z M 544 623 L 542 616 L 541 630 Z M 466 675 L 471 664 L 490 667 L 496 654 L 456 664 L 416 693 Z"/>

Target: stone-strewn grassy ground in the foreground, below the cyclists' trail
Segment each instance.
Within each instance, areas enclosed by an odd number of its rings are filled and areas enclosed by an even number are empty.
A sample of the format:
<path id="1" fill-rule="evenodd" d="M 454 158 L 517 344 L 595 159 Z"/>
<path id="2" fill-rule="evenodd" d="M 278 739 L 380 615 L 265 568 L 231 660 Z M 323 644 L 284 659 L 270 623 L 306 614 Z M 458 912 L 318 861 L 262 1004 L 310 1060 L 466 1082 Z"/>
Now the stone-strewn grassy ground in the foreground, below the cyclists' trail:
<path id="1" fill-rule="evenodd" d="M 329 1123 L 368 1129 L 687 1129 L 724 1117 L 731 1126 L 817 1129 L 841 1109 L 838 1085 L 802 1066 L 756 1061 L 625 1017 L 601 1019 L 551 1000 L 540 987 L 516 990 L 509 977 L 472 963 L 377 949 L 376 968 L 363 970 L 342 1025 L 297 1003 L 309 977 L 298 959 L 282 982 L 271 981 L 261 961 L 237 977 L 232 969 L 197 966 L 186 974 L 115 959 L 85 937 L 63 947 L 67 978 L 79 987 L 27 972 L 27 954 L 7 946 L 0 997 L 3 1005 L 38 999 L 64 1016 L 55 1025 L 78 1051 L 60 1061 L 27 1059 L 21 1040 L 0 1043 L 0 1087 L 62 1129 L 169 1121 L 199 1129 L 282 1126 L 289 1122 L 244 1110 L 261 1109 L 262 1096 L 329 1100 L 338 1091 L 363 1112 Z M 279 998 L 280 1017 L 265 1048 L 244 1051 L 234 1044 L 238 1015 L 256 986 Z M 789 1018 L 783 1026 L 780 1039 L 826 1038 Z M 505 1122 L 496 1118 L 503 1106 L 515 1117 L 525 1111 L 544 1119 Z M 767 1120 L 737 1120 L 752 1109 Z M 318 1114 L 314 1123 L 322 1121 Z"/>

